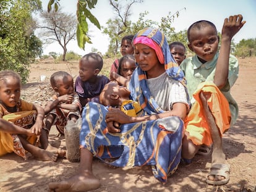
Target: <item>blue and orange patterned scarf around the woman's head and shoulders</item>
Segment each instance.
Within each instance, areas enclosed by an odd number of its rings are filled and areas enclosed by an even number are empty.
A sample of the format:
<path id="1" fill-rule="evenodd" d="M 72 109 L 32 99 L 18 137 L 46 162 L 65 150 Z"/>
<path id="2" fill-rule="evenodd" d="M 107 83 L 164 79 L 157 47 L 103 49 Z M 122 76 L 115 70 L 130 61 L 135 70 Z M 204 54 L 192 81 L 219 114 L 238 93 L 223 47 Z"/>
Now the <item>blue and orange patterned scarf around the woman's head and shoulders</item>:
<path id="1" fill-rule="evenodd" d="M 186 88 L 186 80 L 184 79 L 184 73 L 179 68 L 179 65 L 173 59 L 171 52 L 169 50 L 168 42 L 164 34 L 156 28 L 145 28 L 140 30 L 137 35 L 134 36 L 134 41 L 140 36 L 145 36 L 145 38 L 150 38 L 155 41 L 155 43 L 160 46 L 161 51 L 164 56 L 164 69 L 169 77 L 174 78 L 174 80 L 181 81 L 182 85 Z M 137 64 L 138 66 L 138 64 Z M 139 80 L 139 81 L 138 81 Z M 132 73 L 132 78 L 129 82 L 130 94 L 135 101 L 139 101 L 142 109 L 147 112 L 147 114 L 161 113 L 163 110 L 158 106 L 155 100 L 151 97 L 150 91 L 148 90 L 147 85 L 147 75 L 140 67 L 138 66 Z M 187 92 L 187 88 L 186 88 Z M 189 102 L 189 94 L 187 93 L 187 103 Z"/>

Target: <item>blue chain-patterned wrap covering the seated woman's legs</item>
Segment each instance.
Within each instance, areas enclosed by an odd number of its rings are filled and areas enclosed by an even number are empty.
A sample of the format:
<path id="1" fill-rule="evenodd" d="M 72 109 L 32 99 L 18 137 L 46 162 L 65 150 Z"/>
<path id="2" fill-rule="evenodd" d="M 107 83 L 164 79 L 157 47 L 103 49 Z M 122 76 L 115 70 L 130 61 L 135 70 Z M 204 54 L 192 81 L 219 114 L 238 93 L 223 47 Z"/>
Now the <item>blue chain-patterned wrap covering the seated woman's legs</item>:
<path id="1" fill-rule="evenodd" d="M 80 148 L 87 148 L 94 156 L 117 167 L 151 165 L 155 178 L 166 183 L 181 159 L 182 120 L 168 117 L 169 124 L 177 122 L 173 131 L 167 131 L 160 123 L 163 119 L 158 119 L 125 124 L 120 133 L 109 133 L 107 112 L 108 107 L 95 102 L 84 107 Z M 109 162 L 109 158 L 113 161 Z"/>

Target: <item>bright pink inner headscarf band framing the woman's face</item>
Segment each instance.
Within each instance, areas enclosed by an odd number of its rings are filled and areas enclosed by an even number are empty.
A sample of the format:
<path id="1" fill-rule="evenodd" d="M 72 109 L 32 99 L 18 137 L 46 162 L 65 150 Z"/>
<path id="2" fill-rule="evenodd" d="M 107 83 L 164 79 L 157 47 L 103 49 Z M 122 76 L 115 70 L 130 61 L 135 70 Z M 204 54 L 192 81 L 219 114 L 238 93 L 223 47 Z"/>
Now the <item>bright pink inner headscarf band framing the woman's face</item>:
<path id="1" fill-rule="evenodd" d="M 138 36 L 137 38 L 134 39 L 133 43 L 134 44 L 137 44 L 137 43 L 145 44 L 145 45 L 149 46 L 150 48 L 154 49 L 160 64 L 164 64 L 163 52 L 162 52 L 160 46 L 155 41 L 151 40 L 147 36 Z"/>

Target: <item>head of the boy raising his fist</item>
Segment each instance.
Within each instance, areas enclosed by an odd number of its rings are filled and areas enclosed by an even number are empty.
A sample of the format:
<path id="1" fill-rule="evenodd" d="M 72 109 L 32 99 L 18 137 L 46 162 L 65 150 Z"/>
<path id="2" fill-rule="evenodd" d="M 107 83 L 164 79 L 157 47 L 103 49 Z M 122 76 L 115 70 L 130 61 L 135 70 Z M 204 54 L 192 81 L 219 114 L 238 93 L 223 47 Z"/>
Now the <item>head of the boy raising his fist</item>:
<path id="1" fill-rule="evenodd" d="M 189 49 L 197 54 L 198 59 L 205 63 L 211 61 L 218 51 L 219 36 L 213 23 L 200 20 L 190 25 L 187 30 Z"/>

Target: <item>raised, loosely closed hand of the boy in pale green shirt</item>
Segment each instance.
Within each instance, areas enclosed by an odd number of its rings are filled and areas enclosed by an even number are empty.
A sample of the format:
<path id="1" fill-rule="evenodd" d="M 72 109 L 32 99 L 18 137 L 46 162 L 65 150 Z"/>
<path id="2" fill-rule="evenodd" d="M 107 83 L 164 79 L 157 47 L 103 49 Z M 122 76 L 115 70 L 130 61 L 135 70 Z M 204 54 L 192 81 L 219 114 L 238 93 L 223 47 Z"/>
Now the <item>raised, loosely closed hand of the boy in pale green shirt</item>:
<path id="1" fill-rule="evenodd" d="M 224 20 L 221 31 L 221 38 L 223 40 L 231 41 L 233 36 L 244 26 L 245 21 L 242 21 L 242 15 L 231 15 Z"/>

